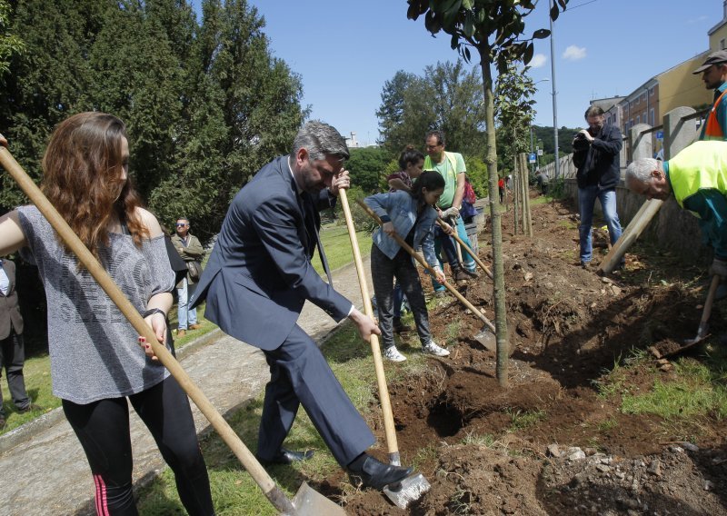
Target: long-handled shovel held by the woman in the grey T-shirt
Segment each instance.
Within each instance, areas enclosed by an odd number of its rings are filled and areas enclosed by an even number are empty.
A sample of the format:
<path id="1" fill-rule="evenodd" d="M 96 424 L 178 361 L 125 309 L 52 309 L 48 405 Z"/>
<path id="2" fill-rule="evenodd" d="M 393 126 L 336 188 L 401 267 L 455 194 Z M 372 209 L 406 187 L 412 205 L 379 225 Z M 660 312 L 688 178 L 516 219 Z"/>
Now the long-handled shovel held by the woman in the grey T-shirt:
<path id="1" fill-rule="evenodd" d="M 56 233 L 60 235 L 63 241 L 78 257 L 78 260 L 85 265 L 85 268 L 94 276 L 96 283 L 98 283 L 104 292 L 111 298 L 118 309 L 124 313 L 124 316 L 129 323 L 134 326 L 136 332 L 139 335 L 143 335 L 146 338 L 146 342 L 152 345 L 154 354 L 159 359 L 159 362 L 164 364 L 164 367 L 174 376 L 174 379 L 179 382 L 180 386 L 184 389 L 184 392 L 192 398 L 194 403 L 199 407 L 199 410 L 204 413 L 204 416 L 212 423 L 214 430 L 220 434 L 223 441 L 227 443 L 230 449 L 234 452 L 235 456 L 242 462 L 244 469 L 250 473 L 254 481 L 260 486 L 260 489 L 264 492 L 267 499 L 274 505 L 275 509 L 284 514 L 299 514 L 299 515 L 319 515 L 319 514 L 332 514 L 332 515 L 343 515 L 345 511 L 339 505 L 325 498 L 322 494 L 314 491 L 307 483 L 303 482 L 298 492 L 295 495 L 294 501 L 288 500 L 284 492 L 275 485 L 275 482 L 270 475 L 264 470 L 263 466 L 258 462 L 254 455 L 245 447 L 240 437 L 234 432 L 230 425 L 224 421 L 222 415 L 214 408 L 213 404 L 207 399 L 199 387 L 197 387 L 189 375 L 184 371 L 179 362 L 176 362 L 172 353 L 169 352 L 164 345 L 160 344 L 156 340 L 154 331 L 144 322 L 141 314 L 136 311 L 134 305 L 129 302 L 121 292 L 119 287 L 114 283 L 111 276 L 106 273 L 105 269 L 95 259 L 95 256 L 88 251 L 81 239 L 76 236 L 74 231 L 65 222 L 60 213 L 55 210 L 53 204 L 48 201 L 45 195 L 40 189 L 33 183 L 33 180 L 25 174 L 25 171 L 15 161 L 15 158 L 10 152 L 0 145 L 0 164 L 5 167 L 10 175 L 13 176 L 15 182 L 30 198 L 31 202 L 35 204 L 38 210 L 43 213 L 45 219 L 53 226 Z"/>

